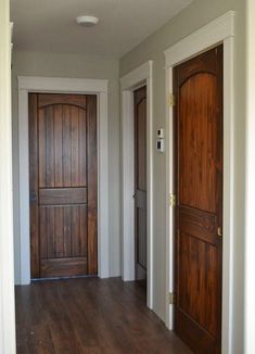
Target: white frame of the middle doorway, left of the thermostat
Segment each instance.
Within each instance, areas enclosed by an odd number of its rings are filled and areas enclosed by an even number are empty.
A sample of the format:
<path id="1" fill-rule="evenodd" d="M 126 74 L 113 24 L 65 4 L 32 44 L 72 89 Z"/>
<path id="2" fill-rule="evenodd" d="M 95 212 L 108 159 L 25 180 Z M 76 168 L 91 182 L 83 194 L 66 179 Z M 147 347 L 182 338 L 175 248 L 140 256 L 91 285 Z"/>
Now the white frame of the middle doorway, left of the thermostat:
<path id="1" fill-rule="evenodd" d="M 148 306 L 153 306 L 153 148 L 152 148 L 152 66 L 149 61 L 120 78 L 122 86 L 122 278 L 135 280 L 135 127 L 133 90 L 146 85 L 146 230 L 148 230 Z"/>

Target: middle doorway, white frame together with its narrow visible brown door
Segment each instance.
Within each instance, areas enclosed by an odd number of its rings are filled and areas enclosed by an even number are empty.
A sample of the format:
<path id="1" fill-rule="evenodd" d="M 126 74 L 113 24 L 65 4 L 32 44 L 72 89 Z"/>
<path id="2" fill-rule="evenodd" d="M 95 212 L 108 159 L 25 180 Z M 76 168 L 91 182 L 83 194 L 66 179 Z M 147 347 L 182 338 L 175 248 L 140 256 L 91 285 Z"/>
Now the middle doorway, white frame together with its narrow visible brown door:
<path id="1" fill-rule="evenodd" d="M 146 305 L 150 308 L 153 308 L 152 64 L 149 61 L 120 79 L 122 278 L 146 283 Z"/>

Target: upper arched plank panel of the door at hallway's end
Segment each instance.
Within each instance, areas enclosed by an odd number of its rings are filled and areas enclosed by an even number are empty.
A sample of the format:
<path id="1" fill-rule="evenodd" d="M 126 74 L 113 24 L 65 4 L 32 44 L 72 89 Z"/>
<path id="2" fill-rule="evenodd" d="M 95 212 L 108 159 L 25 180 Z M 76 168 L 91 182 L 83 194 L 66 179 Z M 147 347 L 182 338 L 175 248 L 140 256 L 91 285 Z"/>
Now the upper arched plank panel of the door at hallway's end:
<path id="1" fill-rule="evenodd" d="M 39 109 L 39 188 L 87 186 L 86 124 L 77 106 Z"/>

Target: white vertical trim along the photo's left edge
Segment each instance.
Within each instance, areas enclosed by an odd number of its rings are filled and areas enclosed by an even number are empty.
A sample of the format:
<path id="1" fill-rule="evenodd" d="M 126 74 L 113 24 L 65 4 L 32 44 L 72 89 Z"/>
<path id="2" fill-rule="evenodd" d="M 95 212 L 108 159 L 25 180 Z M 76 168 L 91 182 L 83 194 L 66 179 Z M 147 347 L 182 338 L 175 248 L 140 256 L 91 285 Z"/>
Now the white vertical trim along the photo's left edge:
<path id="1" fill-rule="evenodd" d="M 10 1 L 0 1 L 0 353 L 14 354 Z"/>

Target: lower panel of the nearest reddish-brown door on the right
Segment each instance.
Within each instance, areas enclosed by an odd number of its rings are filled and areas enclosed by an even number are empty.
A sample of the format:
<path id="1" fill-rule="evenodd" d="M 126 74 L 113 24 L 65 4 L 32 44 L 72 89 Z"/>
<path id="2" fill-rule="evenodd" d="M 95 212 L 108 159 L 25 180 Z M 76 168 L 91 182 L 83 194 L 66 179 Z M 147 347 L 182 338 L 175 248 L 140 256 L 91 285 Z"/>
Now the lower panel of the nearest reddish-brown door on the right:
<path id="1" fill-rule="evenodd" d="M 213 337 L 217 337 L 217 249 L 200 239 L 179 235 L 178 307 Z"/>

